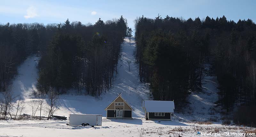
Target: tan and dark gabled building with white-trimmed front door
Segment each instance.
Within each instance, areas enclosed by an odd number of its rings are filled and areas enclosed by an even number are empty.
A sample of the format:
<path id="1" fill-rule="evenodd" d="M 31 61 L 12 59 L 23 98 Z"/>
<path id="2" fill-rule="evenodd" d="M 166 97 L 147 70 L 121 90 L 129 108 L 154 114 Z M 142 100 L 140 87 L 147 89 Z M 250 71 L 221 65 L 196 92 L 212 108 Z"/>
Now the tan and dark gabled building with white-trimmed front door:
<path id="1" fill-rule="evenodd" d="M 107 119 L 116 118 L 116 119 L 132 119 L 132 111 L 134 109 L 124 100 L 120 95 L 114 99 L 106 108 Z"/>

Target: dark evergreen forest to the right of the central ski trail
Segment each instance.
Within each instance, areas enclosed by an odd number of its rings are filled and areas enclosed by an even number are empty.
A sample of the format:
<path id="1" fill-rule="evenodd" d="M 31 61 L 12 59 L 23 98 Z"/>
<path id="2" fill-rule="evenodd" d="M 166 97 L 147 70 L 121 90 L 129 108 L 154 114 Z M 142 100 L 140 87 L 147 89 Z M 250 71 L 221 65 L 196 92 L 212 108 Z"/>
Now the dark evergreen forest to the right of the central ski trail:
<path id="1" fill-rule="evenodd" d="M 204 64 L 210 63 L 209 73 L 217 76 L 219 84 L 218 103 L 228 112 L 241 106 L 234 121 L 241 121 L 245 111 L 253 118 L 256 25 L 251 19 L 185 20 L 158 15 L 134 22 L 140 81 L 150 83 L 155 100 L 187 102 L 189 91 L 202 88 Z"/>

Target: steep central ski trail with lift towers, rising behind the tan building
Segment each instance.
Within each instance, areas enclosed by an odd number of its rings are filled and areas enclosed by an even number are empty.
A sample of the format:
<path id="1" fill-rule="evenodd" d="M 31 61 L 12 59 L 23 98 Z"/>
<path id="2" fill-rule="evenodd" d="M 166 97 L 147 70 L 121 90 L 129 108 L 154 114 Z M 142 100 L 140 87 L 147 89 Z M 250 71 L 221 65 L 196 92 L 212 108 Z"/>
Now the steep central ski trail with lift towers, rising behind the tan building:
<path id="1" fill-rule="evenodd" d="M 148 86 L 144 85 L 139 80 L 138 64 L 135 63 L 134 57 L 135 46 L 134 38 L 131 38 L 131 45 L 128 38 L 124 39 L 121 57 L 117 66 L 117 77 L 113 88 L 109 92 L 115 95 L 114 98 L 116 94 L 120 92 L 122 97 L 124 97 L 135 110 L 135 115 L 144 117 L 141 103 L 142 99 L 148 99 L 150 92 Z M 128 61 L 131 61 L 130 71 Z"/>

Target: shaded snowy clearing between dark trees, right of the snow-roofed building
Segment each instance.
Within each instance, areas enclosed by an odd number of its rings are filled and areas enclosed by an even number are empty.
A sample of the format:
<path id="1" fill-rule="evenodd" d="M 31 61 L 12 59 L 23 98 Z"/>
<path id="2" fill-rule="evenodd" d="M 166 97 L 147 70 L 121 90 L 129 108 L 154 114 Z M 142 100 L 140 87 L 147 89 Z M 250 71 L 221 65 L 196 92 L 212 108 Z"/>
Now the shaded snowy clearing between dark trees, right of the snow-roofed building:
<path id="1" fill-rule="evenodd" d="M 209 73 L 211 65 L 204 64 L 202 80 L 202 90 L 191 91 L 188 95 L 188 104 L 184 110 L 175 114 L 175 119 L 180 121 L 212 121 L 221 123 L 220 106 L 218 101 L 217 87 L 218 81 L 216 76 Z"/>

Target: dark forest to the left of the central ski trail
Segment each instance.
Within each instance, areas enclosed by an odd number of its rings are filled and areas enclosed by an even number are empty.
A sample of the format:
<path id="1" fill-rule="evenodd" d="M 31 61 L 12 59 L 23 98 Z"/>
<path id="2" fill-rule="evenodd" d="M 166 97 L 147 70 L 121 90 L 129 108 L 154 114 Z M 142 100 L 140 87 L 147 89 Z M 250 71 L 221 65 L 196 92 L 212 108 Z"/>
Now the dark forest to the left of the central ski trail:
<path id="1" fill-rule="evenodd" d="M 0 25 L 0 91 L 6 91 L 18 66 L 31 55 L 40 56 L 36 88 L 47 94 L 74 89 L 100 96 L 117 73 L 120 45 L 127 21 L 99 19 L 94 25 L 79 21 L 63 24 Z"/>

